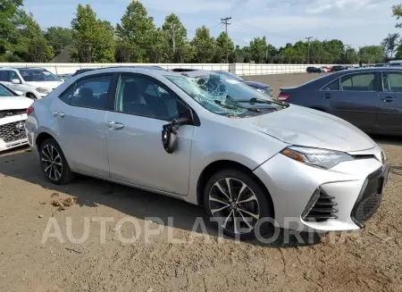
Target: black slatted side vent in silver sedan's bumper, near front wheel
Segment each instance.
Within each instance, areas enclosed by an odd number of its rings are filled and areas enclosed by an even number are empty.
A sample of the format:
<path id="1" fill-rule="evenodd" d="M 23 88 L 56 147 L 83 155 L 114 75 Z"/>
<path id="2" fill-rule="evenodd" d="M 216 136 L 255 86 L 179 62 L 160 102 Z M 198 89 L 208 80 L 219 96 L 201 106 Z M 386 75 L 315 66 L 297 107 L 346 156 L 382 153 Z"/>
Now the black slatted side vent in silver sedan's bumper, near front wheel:
<path id="1" fill-rule="evenodd" d="M 338 204 L 333 201 L 335 196 L 328 196 L 322 188 L 319 190 L 320 196 L 318 196 L 317 201 L 303 220 L 322 222 L 329 219 L 338 219 L 338 216 L 335 215 L 339 211 L 335 208 Z"/>

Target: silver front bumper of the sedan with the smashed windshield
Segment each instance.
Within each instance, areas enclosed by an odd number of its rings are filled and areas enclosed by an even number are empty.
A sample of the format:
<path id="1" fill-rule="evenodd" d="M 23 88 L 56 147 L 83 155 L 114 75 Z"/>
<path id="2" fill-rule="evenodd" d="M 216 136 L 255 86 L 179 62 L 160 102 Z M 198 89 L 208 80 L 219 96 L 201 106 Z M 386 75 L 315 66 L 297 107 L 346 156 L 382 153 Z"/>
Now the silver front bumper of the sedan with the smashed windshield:
<path id="1" fill-rule="evenodd" d="M 381 156 L 378 146 L 371 152 L 375 157 Z M 270 192 L 279 227 L 300 231 L 353 230 L 362 228 L 381 204 L 389 168 L 374 156 L 323 170 L 276 154 L 254 172 Z M 333 203 L 336 212 L 325 220 L 307 220 L 306 206 L 317 189 L 325 196 L 321 203 Z"/>

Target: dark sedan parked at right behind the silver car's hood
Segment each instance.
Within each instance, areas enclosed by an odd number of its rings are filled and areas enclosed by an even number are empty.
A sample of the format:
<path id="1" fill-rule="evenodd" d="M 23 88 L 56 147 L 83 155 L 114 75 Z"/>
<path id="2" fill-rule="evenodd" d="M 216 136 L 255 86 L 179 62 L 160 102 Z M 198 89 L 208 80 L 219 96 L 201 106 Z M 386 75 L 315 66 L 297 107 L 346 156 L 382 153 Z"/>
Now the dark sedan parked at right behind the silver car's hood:
<path id="1" fill-rule="evenodd" d="M 281 88 L 278 100 L 334 114 L 367 133 L 402 134 L 402 69 L 339 71 Z"/>

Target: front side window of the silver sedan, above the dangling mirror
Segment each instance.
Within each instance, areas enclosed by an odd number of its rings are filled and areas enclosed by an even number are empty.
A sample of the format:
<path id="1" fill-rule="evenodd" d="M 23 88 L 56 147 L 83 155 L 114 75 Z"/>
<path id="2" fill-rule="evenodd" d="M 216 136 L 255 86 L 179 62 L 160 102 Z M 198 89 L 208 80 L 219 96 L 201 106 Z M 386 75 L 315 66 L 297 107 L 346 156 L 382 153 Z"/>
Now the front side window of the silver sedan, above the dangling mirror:
<path id="1" fill-rule="evenodd" d="M 138 75 L 121 75 L 115 110 L 165 121 L 179 117 L 176 95 L 155 79 Z"/>

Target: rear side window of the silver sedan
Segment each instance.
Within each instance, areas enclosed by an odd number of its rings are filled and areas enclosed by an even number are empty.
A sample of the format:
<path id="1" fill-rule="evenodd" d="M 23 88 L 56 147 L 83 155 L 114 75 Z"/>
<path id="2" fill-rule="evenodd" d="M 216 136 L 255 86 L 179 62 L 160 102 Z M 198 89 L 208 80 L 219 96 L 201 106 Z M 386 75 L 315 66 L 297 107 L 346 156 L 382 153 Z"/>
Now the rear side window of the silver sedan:
<path id="1" fill-rule="evenodd" d="M 107 110 L 112 81 L 112 74 L 80 79 L 59 98 L 72 106 Z"/>

